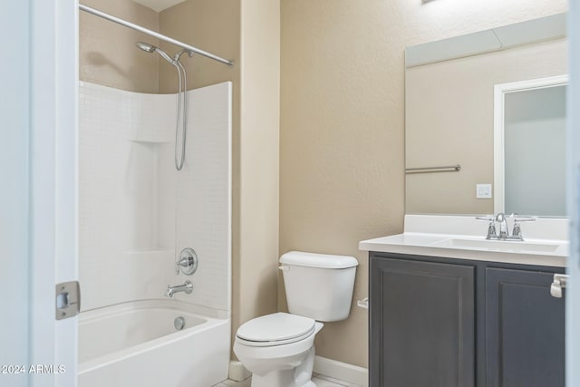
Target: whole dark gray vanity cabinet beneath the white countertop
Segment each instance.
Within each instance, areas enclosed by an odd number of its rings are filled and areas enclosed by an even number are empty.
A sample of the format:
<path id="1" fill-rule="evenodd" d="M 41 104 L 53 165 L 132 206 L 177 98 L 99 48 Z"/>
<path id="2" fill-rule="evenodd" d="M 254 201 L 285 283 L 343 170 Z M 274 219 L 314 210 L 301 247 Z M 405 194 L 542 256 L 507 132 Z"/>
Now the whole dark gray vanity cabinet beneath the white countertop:
<path id="1" fill-rule="evenodd" d="M 372 387 L 564 387 L 563 268 L 371 253 Z"/>

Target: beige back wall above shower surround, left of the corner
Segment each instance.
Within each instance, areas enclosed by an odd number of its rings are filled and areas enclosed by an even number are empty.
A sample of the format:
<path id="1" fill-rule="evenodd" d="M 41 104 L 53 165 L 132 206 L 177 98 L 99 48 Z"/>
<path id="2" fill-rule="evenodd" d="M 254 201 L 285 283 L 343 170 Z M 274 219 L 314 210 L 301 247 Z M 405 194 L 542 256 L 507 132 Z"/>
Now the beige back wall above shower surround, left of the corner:
<path id="1" fill-rule="evenodd" d="M 130 0 L 84 0 L 82 4 L 159 31 L 158 14 Z M 131 92 L 157 92 L 159 59 L 139 50 L 135 44 L 140 41 L 158 44 L 157 39 L 146 34 L 80 11 L 81 81 Z"/>

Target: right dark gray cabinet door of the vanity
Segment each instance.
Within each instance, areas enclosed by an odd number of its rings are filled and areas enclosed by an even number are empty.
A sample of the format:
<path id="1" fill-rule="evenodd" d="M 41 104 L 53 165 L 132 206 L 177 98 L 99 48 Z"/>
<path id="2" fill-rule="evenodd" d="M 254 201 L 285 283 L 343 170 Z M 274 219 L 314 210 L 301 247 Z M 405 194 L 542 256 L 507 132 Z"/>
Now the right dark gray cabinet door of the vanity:
<path id="1" fill-rule="evenodd" d="M 488 387 L 564 387 L 565 302 L 553 273 L 486 269 Z"/>

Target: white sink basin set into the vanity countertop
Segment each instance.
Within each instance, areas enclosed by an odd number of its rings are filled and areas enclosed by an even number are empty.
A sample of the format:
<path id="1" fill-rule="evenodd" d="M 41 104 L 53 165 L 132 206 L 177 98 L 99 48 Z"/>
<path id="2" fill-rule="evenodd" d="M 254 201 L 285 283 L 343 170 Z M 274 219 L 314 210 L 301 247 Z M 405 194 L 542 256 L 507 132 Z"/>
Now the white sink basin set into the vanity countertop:
<path id="1" fill-rule="evenodd" d="M 556 243 L 536 243 L 514 240 L 488 240 L 469 238 L 449 238 L 434 242 L 432 246 L 451 248 L 475 248 L 482 250 L 521 252 L 521 253 L 554 253 L 560 247 Z"/>

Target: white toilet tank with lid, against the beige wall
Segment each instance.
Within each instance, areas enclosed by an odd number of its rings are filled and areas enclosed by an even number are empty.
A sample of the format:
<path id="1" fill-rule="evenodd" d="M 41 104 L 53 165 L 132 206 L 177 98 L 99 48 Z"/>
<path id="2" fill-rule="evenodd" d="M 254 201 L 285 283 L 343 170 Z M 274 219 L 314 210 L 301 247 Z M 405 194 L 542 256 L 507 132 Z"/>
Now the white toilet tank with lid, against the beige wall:
<path id="1" fill-rule="evenodd" d="M 280 257 L 280 264 L 291 314 L 322 322 L 348 317 L 359 264 L 356 258 L 290 251 Z"/>

